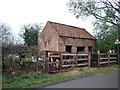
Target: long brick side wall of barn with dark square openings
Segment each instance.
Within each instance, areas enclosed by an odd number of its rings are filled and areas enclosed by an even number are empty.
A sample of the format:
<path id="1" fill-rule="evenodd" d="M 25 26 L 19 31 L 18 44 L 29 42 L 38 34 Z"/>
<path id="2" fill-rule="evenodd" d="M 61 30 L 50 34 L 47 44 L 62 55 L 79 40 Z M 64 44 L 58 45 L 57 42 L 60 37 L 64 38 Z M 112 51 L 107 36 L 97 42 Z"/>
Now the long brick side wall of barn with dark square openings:
<path id="1" fill-rule="evenodd" d="M 95 48 L 95 40 L 61 37 L 59 39 L 59 51 L 65 52 L 65 45 L 72 45 L 72 53 L 77 52 L 77 46 L 85 47 L 84 52 L 88 52 L 88 46 Z"/>

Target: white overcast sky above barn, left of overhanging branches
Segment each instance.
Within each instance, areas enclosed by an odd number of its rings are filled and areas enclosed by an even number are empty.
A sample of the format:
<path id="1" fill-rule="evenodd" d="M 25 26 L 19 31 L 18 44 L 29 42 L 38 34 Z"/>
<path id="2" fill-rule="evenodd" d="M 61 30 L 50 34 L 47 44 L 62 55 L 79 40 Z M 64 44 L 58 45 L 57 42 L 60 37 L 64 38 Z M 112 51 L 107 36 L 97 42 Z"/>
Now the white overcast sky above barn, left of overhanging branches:
<path id="1" fill-rule="evenodd" d="M 12 32 L 17 35 L 24 24 L 58 22 L 85 28 L 92 34 L 92 19 L 85 21 L 76 19 L 69 13 L 68 0 L 0 0 L 0 22 L 11 26 Z"/>

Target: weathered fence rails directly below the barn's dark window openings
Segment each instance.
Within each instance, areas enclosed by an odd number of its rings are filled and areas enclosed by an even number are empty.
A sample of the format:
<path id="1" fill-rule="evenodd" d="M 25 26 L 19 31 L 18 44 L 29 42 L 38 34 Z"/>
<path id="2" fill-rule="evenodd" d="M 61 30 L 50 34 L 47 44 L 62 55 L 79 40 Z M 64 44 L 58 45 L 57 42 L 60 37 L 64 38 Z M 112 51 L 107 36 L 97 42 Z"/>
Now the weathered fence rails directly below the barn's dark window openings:
<path id="1" fill-rule="evenodd" d="M 83 66 L 88 65 L 89 54 L 70 54 L 70 53 L 62 53 L 61 54 L 62 67 L 69 66 Z"/>

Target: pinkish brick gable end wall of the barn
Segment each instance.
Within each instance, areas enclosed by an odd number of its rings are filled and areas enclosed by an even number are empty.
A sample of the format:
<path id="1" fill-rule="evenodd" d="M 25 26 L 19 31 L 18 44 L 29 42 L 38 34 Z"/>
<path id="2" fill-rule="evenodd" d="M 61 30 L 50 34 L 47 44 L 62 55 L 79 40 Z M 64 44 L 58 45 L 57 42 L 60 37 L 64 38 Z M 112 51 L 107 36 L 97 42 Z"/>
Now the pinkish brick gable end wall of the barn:
<path id="1" fill-rule="evenodd" d="M 48 23 L 40 34 L 38 44 L 42 51 L 58 51 L 58 39 L 58 33 Z"/>

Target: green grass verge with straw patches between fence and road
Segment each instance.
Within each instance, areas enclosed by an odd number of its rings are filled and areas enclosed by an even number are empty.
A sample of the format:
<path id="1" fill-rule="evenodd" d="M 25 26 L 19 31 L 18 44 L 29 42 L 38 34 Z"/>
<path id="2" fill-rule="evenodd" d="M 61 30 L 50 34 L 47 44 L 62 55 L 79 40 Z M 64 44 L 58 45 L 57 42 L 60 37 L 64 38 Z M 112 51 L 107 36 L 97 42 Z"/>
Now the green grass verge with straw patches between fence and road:
<path id="1" fill-rule="evenodd" d="M 21 73 L 19 75 L 7 75 L 3 73 L 2 88 L 40 88 L 50 84 L 64 82 L 80 77 L 86 77 L 89 75 L 113 72 L 118 70 L 118 65 L 99 68 L 69 68 L 68 72 L 56 73 L 56 74 L 38 74 L 33 73 Z"/>

